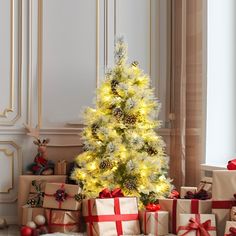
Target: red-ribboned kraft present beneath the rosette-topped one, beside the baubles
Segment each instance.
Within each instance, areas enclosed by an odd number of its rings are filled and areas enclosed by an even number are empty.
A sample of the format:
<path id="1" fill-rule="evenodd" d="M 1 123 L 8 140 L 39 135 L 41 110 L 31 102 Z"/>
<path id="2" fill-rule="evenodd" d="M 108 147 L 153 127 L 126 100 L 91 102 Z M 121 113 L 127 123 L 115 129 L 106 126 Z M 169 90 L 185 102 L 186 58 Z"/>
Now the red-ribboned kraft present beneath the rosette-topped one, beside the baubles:
<path id="1" fill-rule="evenodd" d="M 45 209 L 50 233 L 83 232 L 81 211 Z"/>

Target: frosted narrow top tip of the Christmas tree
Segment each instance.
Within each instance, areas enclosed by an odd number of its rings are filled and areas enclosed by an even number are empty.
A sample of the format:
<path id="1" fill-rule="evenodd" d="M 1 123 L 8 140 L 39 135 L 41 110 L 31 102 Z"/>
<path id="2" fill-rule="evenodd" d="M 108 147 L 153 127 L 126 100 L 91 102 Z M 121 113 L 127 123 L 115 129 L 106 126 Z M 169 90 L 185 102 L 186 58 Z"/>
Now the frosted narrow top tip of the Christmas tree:
<path id="1" fill-rule="evenodd" d="M 115 63 L 118 65 L 125 64 L 127 61 L 127 45 L 124 42 L 124 37 L 115 39 Z"/>

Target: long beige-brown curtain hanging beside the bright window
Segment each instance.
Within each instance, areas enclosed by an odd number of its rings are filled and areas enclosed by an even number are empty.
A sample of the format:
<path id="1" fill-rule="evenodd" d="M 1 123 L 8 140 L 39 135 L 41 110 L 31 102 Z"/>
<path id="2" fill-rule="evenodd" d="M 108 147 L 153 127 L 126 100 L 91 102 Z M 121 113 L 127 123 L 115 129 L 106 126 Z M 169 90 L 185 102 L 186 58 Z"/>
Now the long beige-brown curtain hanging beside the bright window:
<path id="1" fill-rule="evenodd" d="M 204 154 L 203 0 L 172 0 L 170 175 L 196 186 Z"/>

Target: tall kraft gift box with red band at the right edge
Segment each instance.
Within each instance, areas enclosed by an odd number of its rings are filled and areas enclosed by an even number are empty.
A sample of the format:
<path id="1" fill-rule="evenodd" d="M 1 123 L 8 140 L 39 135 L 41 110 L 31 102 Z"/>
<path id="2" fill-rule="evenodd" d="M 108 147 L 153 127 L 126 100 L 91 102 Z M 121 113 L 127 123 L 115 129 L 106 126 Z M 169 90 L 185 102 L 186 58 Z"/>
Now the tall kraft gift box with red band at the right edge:
<path id="1" fill-rule="evenodd" d="M 230 210 L 236 206 L 236 171 L 213 171 L 212 213 L 216 215 L 217 232 L 224 235 L 226 221 L 230 220 Z"/>

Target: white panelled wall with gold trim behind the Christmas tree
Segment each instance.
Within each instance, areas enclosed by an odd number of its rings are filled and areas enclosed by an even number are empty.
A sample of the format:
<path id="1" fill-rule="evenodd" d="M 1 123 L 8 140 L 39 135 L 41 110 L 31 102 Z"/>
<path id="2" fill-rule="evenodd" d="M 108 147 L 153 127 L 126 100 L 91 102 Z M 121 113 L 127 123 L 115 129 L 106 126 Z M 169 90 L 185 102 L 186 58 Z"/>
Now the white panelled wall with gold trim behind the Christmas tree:
<path id="1" fill-rule="evenodd" d="M 153 85 L 160 85 L 165 121 L 165 3 L 0 0 L 0 217 L 16 222 L 18 176 L 36 154 L 23 124 L 40 126 L 51 139 L 50 159 L 72 161 L 81 151 L 80 113 L 93 104 L 104 68 L 113 64 L 116 34 L 129 43 L 130 60 L 140 61 Z"/>

